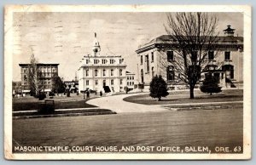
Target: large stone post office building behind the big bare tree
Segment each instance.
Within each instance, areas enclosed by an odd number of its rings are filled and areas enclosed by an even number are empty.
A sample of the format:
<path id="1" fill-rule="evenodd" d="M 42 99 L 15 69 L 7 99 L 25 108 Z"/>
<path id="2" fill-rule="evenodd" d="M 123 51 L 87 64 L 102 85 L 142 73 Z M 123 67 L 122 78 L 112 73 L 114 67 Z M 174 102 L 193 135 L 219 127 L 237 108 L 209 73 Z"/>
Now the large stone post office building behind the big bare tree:
<path id="1" fill-rule="evenodd" d="M 243 37 L 235 37 L 234 33 L 235 29 L 228 26 L 224 30 L 224 36 L 216 38 L 215 49 L 207 52 L 208 63 L 202 68 L 201 78 L 211 71 L 214 77 L 219 77 L 222 88 L 242 88 L 243 84 Z M 166 80 L 169 88 L 188 87 L 179 79 L 179 72 L 172 65 L 177 52 L 171 38 L 169 35 L 156 37 L 136 50 L 138 83 L 143 84 L 145 89 L 149 88 L 149 83 L 156 74 Z"/>

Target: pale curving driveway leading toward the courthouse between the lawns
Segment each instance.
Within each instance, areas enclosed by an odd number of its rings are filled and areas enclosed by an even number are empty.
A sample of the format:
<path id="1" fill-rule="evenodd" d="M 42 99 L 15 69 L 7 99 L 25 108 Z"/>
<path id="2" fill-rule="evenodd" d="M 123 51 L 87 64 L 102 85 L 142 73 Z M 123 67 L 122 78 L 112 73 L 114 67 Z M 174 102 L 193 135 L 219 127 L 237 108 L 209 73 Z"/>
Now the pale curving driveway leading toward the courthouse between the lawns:
<path id="1" fill-rule="evenodd" d="M 132 96 L 132 95 L 138 95 L 138 94 L 120 94 L 120 95 L 107 96 L 102 98 L 96 98 L 93 100 L 88 100 L 86 103 L 90 105 L 99 106 L 100 108 L 109 109 L 117 113 L 168 111 L 165 108 L 162 108 L 160 106 L 141 105 L 141 104 L 126 102 L 123 100 L 125 97 Z"/>

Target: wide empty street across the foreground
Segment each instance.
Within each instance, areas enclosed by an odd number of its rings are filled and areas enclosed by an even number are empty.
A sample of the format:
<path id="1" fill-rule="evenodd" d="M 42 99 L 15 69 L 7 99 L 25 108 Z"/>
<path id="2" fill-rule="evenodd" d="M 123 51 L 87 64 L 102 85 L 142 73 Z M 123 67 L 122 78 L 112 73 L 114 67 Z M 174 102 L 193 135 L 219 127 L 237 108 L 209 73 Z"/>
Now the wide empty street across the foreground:
<path id="1" fill-rule="evenodd" d="M 13 122 L 14 145 L 242 145 L 242 109 L 158 111 Z"/>

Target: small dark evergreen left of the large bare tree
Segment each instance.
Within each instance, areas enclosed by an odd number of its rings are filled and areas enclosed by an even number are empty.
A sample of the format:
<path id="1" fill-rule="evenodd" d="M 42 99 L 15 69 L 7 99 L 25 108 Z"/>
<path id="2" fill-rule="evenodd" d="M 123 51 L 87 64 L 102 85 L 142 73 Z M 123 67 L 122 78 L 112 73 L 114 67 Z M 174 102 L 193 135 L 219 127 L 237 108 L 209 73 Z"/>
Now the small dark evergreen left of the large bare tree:
<path id="1" fill-rule="evenodd" d="M 152 98 L 158 98 L 161 100 L 161 97 L 166 97 L 169 93 L 167 92 L 166 81 L 161 76 L 155 76 L 150 82 L 150 96 Z"/>

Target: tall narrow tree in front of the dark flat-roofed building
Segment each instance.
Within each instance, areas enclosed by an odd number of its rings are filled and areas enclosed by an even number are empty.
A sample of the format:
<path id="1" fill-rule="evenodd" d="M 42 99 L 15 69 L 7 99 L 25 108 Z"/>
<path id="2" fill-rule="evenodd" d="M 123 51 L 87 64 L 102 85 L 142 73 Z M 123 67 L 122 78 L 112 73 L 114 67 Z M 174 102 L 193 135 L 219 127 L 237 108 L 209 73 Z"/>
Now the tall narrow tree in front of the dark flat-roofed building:
<path id="1" fill-rule="evenodd" d="M 31 95 L 37 97 L 43 83 L 41 71 L 38 69 L 38 60 L 36 60 L 34 54 L 31 55 L 30 64 L 28 65 L 28 83 Z"/>

